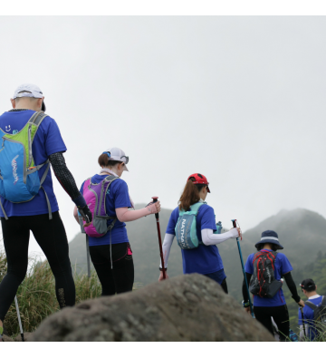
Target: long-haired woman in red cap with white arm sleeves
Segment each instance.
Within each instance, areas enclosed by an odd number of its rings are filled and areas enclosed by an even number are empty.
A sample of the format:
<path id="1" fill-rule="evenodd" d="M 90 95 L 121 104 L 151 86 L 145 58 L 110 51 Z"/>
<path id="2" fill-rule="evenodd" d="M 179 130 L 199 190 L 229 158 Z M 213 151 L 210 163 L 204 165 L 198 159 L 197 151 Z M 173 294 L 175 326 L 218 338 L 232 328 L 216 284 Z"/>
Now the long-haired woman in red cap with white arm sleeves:
<path id="1" fill-rule="evenodd" d="M 214 209 L 206 204 L 207 193 L 210 193 L 208 181 L 203 174 L 192 174 L 188 177 L 185 189 L 179 198 L 179 205 L 168 220 L 168 227 L 163 242 L 163 259 L 165 271 L 168 270 L 168 256 L 173 239 L 182 248 L 184 274 L 201 274 L 215 280 L 227 294 L 226 275 L 217 244 L 229 238 L 240 236 L 239 228 L 232 228 L 224 234 L 215 234 L 216 218 Z M 190 211 L 193 215 L 187 214 Z M 183 220 L 196 220 L 196 230 L 185 232 Z M 191 226 L 191 222 L 189 222 Z M 186 225 L 188 227 L 188 225 Z M 195 226 L 194 226 L 195 228 Z M 162 263 L 159 266 L 158 281 L 163 280 Z M 168 278 L 168 275 L 167 275 Z"/>

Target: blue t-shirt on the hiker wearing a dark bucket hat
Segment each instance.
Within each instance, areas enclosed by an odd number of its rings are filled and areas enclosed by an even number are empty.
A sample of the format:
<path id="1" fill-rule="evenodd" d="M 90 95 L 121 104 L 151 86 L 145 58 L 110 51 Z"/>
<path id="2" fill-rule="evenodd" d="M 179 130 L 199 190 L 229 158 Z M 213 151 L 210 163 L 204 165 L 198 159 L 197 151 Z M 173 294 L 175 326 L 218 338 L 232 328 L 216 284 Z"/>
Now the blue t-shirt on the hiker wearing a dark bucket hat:
<path id="1" fill-rule="evenodd" d="M 273 250 L 264 248 L 264 251 L 273 251 Z M 253 260 L 255 254 L 256 253 L 249 255 L 245 263 L 245 272 L 252 275 L 254 274 Z M 278 252 L 275 258 L 274 270 L 273 270 L 275 280 L 278 281 L 281 280 L 282 276 L 292 271 L 292 269 L 293 268 L 288 258 L 283 253 Z M 285 298 L 283 295 L 283 289 L 280 288 L 279 292 L 276 295 L 274 295 L 272 298 L 259 297 L 259 295 L 254 295 L 254 305 L 257 307 L 275 307 L 278 305 L 286 305 Z"/>

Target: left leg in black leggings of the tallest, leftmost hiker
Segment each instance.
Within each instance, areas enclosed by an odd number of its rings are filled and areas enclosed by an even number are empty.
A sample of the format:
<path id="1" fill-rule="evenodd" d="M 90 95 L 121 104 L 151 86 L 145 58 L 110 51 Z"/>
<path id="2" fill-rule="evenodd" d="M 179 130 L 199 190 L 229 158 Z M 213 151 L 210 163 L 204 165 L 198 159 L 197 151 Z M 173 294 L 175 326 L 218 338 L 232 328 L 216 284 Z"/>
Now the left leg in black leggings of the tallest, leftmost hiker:
<path id="1" fill-rule="evenodd" d="M 1 218 L 1 225 L 7 259 L 7 272 L 0 284 L 0 320 L 3 322 L 26 275 L 30 233 L 24 217 Z"/>

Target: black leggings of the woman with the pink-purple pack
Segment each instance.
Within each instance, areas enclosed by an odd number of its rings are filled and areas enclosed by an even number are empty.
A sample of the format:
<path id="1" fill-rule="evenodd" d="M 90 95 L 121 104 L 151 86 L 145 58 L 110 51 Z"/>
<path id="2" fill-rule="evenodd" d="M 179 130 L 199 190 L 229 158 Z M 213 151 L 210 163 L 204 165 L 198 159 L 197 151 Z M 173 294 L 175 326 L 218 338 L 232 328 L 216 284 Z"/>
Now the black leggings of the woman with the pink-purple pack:
<path id="1" fill-rule="evenodd" d="M 110 245 L 90 247 L 91 262 L 102 286 L 101 295 L 115 295 L 132 290 L 134 266 L 128 254 L 129 243 L 112 245 L 113 269 L 110 265 Z"/>

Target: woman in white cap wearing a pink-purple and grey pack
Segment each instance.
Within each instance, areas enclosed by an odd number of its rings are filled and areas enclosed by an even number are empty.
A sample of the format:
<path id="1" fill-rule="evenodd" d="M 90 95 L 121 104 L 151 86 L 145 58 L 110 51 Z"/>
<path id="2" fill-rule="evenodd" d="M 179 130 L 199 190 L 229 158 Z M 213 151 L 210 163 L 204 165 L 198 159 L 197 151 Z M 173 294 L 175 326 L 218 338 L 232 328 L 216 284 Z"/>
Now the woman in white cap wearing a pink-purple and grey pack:
<path id="1" fill-rule="evenodd" d="M 160 204 L 159 201 L 151 202 L 146 208 L 128 209 L 134 205 L 129 198 L 127 183 L 120 178 L 124 171 L 129 171 L 129 157 L 123 150 L 110 148 L 101 153 L 98 162 L 100 174 L 86 179 L 81 188 L 94 211 L 94 221 L 85 227 L 85 231 L 89 236 L 91 262 L 101 282 L 101 295 L 115 295 L 131 291 L 134 282 L 132 251 L 125 223 L 158 213 Z M 73 215 L 79 223 L 77 208 Z"/>

